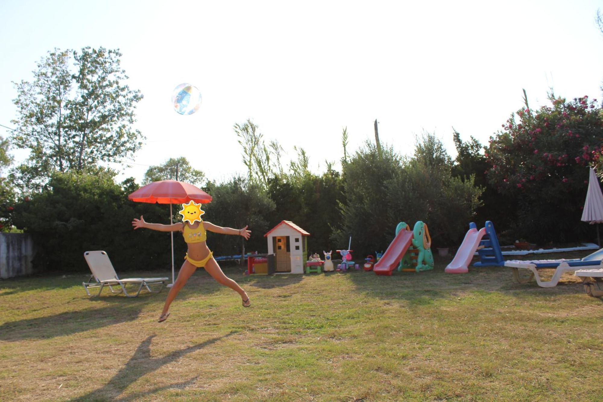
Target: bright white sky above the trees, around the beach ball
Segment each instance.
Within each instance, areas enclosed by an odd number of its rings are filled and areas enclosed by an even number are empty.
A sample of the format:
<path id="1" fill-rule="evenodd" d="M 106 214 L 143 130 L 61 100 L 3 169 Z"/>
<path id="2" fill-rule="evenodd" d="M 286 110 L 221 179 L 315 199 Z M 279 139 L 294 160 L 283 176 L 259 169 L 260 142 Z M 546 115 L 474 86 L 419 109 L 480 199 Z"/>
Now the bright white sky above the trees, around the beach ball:
<path id="1" fill-rule="evenodd" d="M 496 4 L 495 4 L 496 3 Z M 487 144 L 511 113 L 566 98 L 603 98 L 603 1 L 0 0 L 0 124 L 16 118 L 12 81 L 31 80 L 48 51 L 116 49 L 144 99 L 147 138 L 119 177 L 185 156 L 211 180 L 245 174 L 233 125 L 251 119 L 284 161 L 306 150 L 311 170 L 374 141 L 411 155 L 434 133 L 451 156 L 461 139 Z M 181 83 L 198 112 L 171 105 Z M 8 130 L 0 127 L 0 135 Z M 13 150 L 16 162 L 27 157 Z"/>

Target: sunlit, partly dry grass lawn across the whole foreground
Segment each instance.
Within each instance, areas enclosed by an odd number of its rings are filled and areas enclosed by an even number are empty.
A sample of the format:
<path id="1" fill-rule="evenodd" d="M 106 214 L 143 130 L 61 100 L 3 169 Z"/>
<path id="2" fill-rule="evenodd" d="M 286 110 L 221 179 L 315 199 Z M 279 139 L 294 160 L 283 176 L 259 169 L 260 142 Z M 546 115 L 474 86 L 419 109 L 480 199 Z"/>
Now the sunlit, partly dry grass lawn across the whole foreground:
<path id="1" fill-rule="evenodd" d="M 161 324 L 165 290 L 89 298 L 84 261 L 0 281 L 0 400 L 602 400 L 603 301 L 579 278 L 544 289 L 450 260 L 389 277 L 225 267 L 251 308 L 198 270 Z"/>

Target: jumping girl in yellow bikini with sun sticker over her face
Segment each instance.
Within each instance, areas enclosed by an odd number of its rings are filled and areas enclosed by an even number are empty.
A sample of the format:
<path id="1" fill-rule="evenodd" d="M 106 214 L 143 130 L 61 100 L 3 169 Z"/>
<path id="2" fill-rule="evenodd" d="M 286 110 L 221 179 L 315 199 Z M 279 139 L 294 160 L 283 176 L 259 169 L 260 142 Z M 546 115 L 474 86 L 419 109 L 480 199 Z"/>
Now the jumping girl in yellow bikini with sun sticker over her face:
<path id="1" fill-rule="evenodd" d="M 182 264 L 180 272 L 178 272 L 178 277 L 174 282 L 174 286 L 172 286 L 172 288 L 169 290 L 168 297 L 165 300 L 165 305 L 163 305 L 163 311 L 159 316 L 158 322 L 165 321 L 168 318 L 169 305 L 172 301 L 174 301 L 174 298 L 178 292 L 180 292 L 180 289 L 185 286 L 186 281 L 188 281 L 195 270 L 201 267 L 204 267 L 209 275 L 218 281 L 219 284 L 228 286 L 230 289 L 238 292 L 239 295 L 241 295 L 243 307 L 249 307 L 251 305 L 245 290 L 243 290 L 238 283 L 224 275 L 224 272 L 222 272 L 218 263 L 216 263 L 216 260 L 213 259 L 212 252 L 209 250 L 209 248 L 207 248 L 207 244 L 205 243 L 207 238 L 206 231 L 229 235 L 239 235 L 244 237 L 245 240 L 248 240 L 251 231 L 247 230 L 247 226 L 237 230 L 232 228 L 223 228 L 221 226 L 213 225 L 213 223 L 204 222 L 201 219 L 201 215 L 203 215 L 205 212 L 201 211 L 196 203 L 194 203 L 194 205 L 191 205 L 191 203 L 194 202 L 191 201 L 188 205 L 183 204 L 183 210 L 180 211 L 180 214 L 184 217 L 183 221 L 185 222 L 178 222 L 174 223 L 173 225 L 147 223 L 142 218 L 142 215 L 140 215 L 140 219 L 134 218 L 132 221 L 132 226 L 134 226 L 134 229 L 146 228 L 160 232 L 180 231 L 185 238 L 185 242 L 188 244 L 185 262 Z M 192 208 L 193 206 L 197 206 L 197 208 Z"/>

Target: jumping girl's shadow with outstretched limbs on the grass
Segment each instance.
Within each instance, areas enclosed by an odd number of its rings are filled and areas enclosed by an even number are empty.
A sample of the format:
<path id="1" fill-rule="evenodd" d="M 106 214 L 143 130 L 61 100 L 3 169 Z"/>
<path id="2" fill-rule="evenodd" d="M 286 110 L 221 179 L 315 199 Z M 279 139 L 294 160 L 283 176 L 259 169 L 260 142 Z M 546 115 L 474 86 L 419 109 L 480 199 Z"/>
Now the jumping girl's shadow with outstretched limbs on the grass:
<path id="1" fill-rule="evenodd" d="M 218 342 L 220 339 L 224 339 L 227 336 L 231 336 L 237 333 L 237 331 L 230 331 L 230 333 L 215 337 L 205 342 L 197 343 L 197 345 L 189 346 L 185 349 L 180 349 L 177 351 L 173 351 L 170 354 L 167 354 L 163 357 L 151 358 L 151 340 L 155 335 L 151 335 L 147 337 L 134 351 L 130 360 L 125 363 L 125 366 L 120 369 L 117 374 L 113 376 L 109 380 L 107 384 L 102 386 L 101 388 L 95 389 L 94 391 L 89 392 L 86 395 L 81 397 L 73 398 L 72 401 L 87 401 L 87 400 L 115 400 L 115 401 L 131 401 L 138 400 L 139 398 L 156 394 L 156 392 L 162 391 L 163 389 L 172 389 L 172 388 L 186 388 L 190 384 L 195 383 L 197 377 L 193 377 L 190 380 L 186 380 L 182 383 L 170 384 L 167 386 L 162 386 L 158 388 L 151 389 L 147 392 L 139 392 L 134 395 L 129 395 L 128 397 L 118 398 L 119 395 L 124 391 L 124 389 L 128 388 L 130 384 L 134 383 L 143 375 L 146 375 L 150 372 L 156 371 L 157 369 L 165 366 L 168 363 L 172 363 L 175 360 L 180 359 L 181 357 L 198 351 L 201 348 L 212 345 L 215 342 Z"/>

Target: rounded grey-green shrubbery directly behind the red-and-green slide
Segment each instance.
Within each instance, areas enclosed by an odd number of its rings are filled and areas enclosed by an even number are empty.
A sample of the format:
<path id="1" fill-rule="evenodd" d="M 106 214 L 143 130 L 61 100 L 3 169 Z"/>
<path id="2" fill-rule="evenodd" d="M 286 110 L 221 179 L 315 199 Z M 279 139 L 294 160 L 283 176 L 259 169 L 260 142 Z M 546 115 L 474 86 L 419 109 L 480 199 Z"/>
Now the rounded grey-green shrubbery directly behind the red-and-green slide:
<path id="1" fill-rule="evenodd" d="M 412 228 L 418 220 L 428 225 L 432 247 L 459 244 L 482 192 L 473 176 L 452 177 L 452 159 L 429 133 L 417 139 L 409 159 L 385 146 L 379 157 L 377 147 L 367 142 L 346 165 L 344 182 L 344 223 L 333 237 L 345 247 L 352 234 L 352 248 L 361 254 L 384 250 L 399 222 Z"/>

